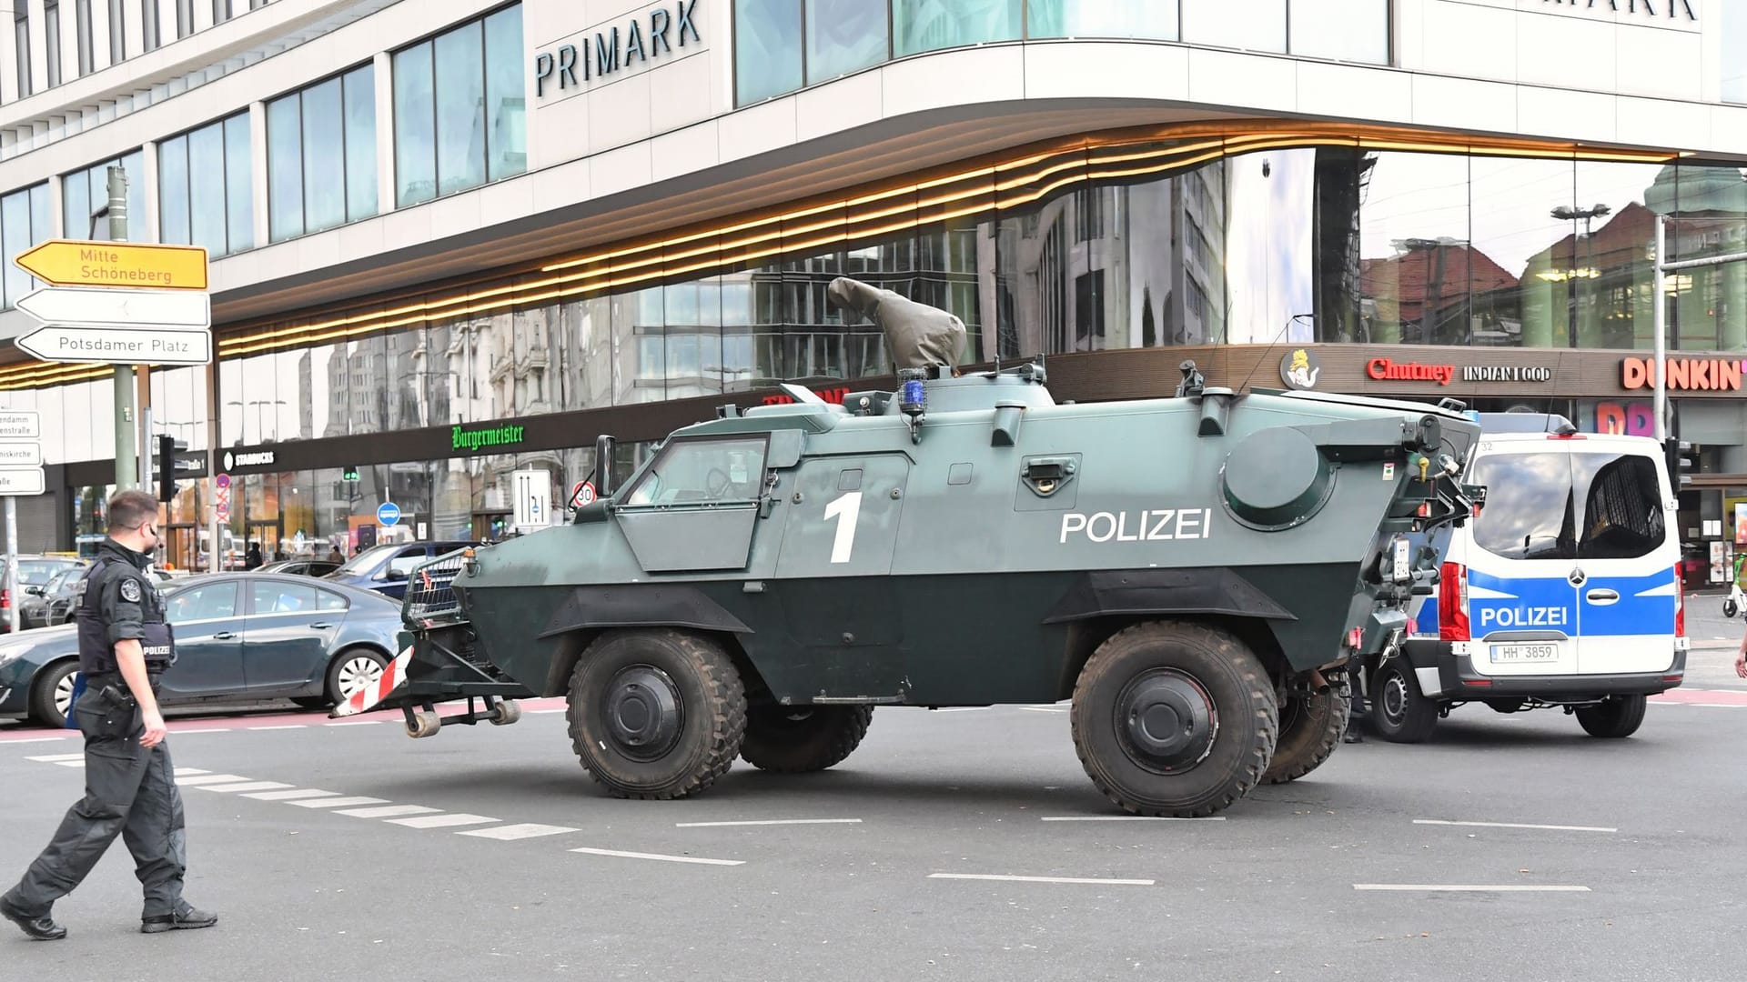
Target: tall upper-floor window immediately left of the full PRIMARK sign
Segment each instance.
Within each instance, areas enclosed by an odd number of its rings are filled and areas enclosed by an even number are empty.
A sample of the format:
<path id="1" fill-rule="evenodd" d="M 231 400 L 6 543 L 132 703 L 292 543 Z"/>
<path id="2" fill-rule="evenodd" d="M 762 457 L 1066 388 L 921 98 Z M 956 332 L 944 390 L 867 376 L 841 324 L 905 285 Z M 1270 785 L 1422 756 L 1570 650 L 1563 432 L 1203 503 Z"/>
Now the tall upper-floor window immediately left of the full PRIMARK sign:
<path id="1" fill-rule="evenodd" d="M 398 206 L 528 169 L 519 3 L 397 51 L 393 77 Z"/>

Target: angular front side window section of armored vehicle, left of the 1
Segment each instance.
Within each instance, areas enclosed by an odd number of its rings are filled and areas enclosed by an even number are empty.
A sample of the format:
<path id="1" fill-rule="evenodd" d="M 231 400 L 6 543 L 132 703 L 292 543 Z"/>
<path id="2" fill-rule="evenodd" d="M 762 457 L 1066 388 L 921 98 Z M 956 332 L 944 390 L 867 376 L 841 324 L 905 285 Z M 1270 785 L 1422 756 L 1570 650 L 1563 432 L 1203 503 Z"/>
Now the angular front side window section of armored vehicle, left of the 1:
<path id="1" fill-rule="evenodd" d="M 758 522 L 769 435 L 669 440 L 613 508 L 650 573 L 744 570 Z"/>

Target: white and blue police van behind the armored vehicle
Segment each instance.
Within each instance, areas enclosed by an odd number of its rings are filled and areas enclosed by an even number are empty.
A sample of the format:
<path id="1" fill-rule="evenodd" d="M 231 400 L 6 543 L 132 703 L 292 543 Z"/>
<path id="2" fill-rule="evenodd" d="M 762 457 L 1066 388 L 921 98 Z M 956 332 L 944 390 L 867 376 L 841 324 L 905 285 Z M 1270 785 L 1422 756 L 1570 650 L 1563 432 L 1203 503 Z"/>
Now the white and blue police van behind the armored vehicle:
<path id="1" fill-rule="evenodd" d="M 1632 736 L 1646 697 L 1686 674 L 1661 444 L 1578 433 L 1560 416 L 1476 416 L 1464 482 L 1487 488 L 1485 507 L 1452 531 L 1412 636 L 1366 666 L 1370 722 L 1417 743 L 1464 702 L 1557 706 L 1593 736 Z"/>

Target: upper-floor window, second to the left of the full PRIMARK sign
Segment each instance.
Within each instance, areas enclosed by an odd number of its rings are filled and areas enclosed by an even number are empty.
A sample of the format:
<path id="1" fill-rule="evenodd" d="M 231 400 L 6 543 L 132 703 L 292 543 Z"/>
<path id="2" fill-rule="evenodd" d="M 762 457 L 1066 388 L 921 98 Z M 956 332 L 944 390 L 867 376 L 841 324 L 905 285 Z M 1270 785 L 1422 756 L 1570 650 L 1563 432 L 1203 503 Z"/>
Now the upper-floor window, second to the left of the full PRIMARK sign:
<path id="1" fill-rule="evenodd" d="M 376 215 L 376 66 L 267 103 L 273 241 Z"/>

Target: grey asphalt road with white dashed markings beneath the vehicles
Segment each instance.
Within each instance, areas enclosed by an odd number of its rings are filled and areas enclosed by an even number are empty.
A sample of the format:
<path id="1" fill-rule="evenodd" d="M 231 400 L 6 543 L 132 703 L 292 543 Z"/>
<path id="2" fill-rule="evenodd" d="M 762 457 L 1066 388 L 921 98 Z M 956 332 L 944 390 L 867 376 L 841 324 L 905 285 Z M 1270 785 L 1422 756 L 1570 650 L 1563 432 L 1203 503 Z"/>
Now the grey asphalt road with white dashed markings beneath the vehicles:
<path id="1" fill-rule="evenodd" d="M 117 844 L 58 905 L 70 938 L 0 923 L 0 977 L 1735 980 L 1747 685 L 1700 643 L 1719 685 L 1632 739 L 1469 706 L 1212 821 L 1115 819 L 1066 706 L 880 709 L 832 772 L 737 765 L 687 802 L 599 793 L 554 702 L 425 741 L 182 716 L 189 898 L 220 924 L 136 933 Z M 0 729 L 0 879 L 77 755 Z"/>

